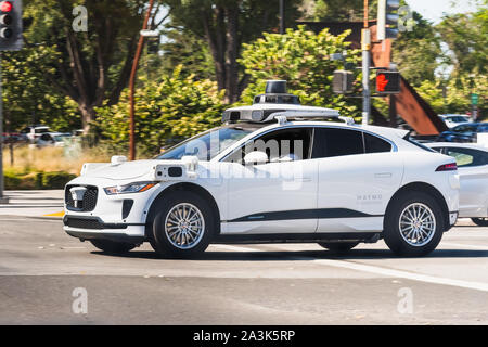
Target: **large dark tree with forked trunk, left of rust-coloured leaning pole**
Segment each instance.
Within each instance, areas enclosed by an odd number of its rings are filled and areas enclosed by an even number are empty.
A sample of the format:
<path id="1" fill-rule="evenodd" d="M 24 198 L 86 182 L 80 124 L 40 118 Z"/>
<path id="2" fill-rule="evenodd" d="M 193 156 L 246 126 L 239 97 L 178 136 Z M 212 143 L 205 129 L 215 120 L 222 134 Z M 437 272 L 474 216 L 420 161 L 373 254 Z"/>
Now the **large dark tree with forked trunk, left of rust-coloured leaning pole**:
<path id="1" fill-rule="evenodd" d="M 139 30 L 143 0 L 87 0 L 88 30 L 76 33 L 74 0 L 31 0 L 25 5 L 27 46 L 41 43 L 52 52 L 38 62 L 44 78 L 73 99 L 84 129 L 95 118 L 105 99 L 118 101 L 127 86 Z"/>

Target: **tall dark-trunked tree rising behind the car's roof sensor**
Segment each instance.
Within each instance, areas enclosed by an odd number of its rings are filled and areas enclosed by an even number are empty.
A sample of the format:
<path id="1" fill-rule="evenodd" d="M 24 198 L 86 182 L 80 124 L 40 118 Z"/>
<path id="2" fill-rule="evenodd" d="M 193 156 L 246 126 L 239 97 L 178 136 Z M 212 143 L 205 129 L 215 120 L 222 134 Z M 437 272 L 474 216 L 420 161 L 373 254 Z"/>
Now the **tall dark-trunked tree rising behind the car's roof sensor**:
<path id="1" fill-rule="evenodd" d="M 239 99 L 248 76 L 240 72 L 241 44 L 278 26 L 278 1 L 166 0 L 171 21 L 204 39 L 211 53 L 215 76 L 230 103 Z M 297 17 L 300 0 L 286 1 L 286 18 Z"/>

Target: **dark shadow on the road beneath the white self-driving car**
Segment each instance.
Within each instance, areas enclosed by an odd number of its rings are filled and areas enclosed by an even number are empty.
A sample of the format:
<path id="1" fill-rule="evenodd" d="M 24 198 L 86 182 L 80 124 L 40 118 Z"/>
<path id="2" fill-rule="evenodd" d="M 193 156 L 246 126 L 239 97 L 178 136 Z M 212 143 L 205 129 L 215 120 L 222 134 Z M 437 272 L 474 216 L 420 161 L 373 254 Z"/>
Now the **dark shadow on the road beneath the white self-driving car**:
<path id="1" fill-rule="evenodd" d="M 104 252 L 91 252 L 100 256 L 117 256 L 123 258 L 139 259 L 160 259 L 171 260 L 174 258 L 160 257 L 155 252 L 132 250 L 127 254 L 110 254 Z M 411 258 L 488 258 L 488 250 L 477 249 L 436 249 L 424 257 L 401 257 L 389 249 L 352 249 L 346 254 L 336 254 L 330 250 L 264 250 L 264 252 L 205 252 L 191 259 L 179 260 L 201 260 L 201 261 L 310 261 L 316 259 L 411 259 Z"/>

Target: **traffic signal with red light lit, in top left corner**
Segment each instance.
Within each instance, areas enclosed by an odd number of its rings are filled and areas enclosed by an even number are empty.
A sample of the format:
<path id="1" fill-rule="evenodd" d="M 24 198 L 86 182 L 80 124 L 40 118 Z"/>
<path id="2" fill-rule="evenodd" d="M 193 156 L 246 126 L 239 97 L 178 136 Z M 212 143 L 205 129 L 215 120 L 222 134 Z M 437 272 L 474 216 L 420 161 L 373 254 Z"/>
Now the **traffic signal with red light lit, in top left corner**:
<path id="1" fill-rule="evenodd" d="M 22 0 L 0 1 L 0 51 L 18 51 L 22 44 Z"/>

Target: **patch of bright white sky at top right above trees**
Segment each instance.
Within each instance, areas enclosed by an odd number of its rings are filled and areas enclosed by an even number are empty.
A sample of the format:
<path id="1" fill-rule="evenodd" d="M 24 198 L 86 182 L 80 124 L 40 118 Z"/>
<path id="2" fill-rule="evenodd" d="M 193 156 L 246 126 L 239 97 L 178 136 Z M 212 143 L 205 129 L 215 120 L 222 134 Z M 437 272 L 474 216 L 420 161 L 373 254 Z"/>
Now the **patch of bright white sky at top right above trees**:
<path id="1" fill-rule="evenodd" d="M 419 12 L 424 18 L 437 24 L 442 14 L 465 13 L 476 10 L 474 0 L 407 0 L 407 3 L 415 12 Z"/>

